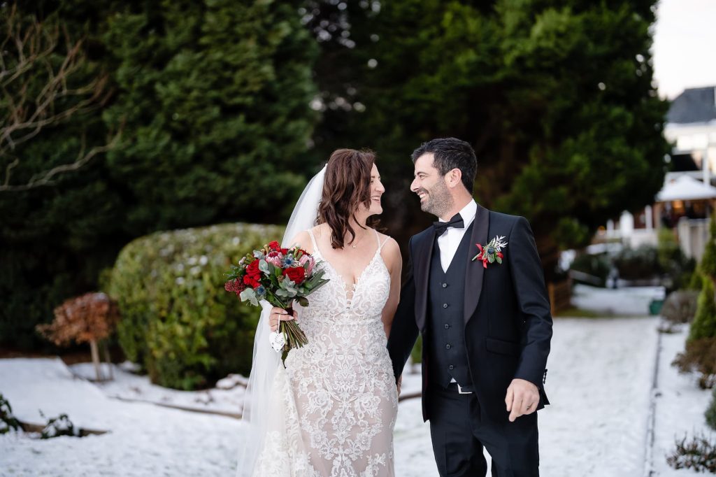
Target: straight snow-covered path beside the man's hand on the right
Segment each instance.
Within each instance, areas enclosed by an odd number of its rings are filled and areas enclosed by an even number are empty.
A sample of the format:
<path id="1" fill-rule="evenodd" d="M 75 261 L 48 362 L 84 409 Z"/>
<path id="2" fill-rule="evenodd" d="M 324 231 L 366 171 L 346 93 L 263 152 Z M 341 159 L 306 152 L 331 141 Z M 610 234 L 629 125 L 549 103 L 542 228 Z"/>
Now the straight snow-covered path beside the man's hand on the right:
<path id="1" fill-rule="evenodd" d="M 545 477 L 644 472 L 655 318 L 556 319 L 539 411 Z"/>

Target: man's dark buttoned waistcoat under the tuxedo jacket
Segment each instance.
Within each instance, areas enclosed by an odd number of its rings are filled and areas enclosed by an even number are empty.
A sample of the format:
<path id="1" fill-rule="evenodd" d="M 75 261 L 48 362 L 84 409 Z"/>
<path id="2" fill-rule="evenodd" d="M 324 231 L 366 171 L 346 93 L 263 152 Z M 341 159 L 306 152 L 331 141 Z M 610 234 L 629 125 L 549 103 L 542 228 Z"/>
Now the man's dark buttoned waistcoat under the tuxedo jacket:
<path id="1" fill-rule="evenodd" d="M 448 387 L 450 380 L 472 390 L 468 369 L 468 352 L 465 349 L 465 267 L 468 266 L 468 248 L 473 230 L 472 224 L 465 231 L 448 271 L 440 266 L 440 247 L 437 238 L 432 249 L 430 278 L 427 284 L 427 312 L 430 352 L 430 381 Z"/>

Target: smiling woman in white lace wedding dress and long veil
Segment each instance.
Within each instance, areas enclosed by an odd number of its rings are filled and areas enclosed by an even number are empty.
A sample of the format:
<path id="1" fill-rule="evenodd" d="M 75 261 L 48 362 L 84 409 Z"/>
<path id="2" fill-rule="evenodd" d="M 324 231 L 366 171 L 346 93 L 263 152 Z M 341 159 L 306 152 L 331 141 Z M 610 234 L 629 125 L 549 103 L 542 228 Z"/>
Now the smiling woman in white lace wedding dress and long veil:
<path id="1" fill-rule="evenodd" d="M 369 226 L 384 193 L 374 159 L 336 150 L 296 203 L 283 246 L 299 244 L 330 281 L 293 316 L 262 304 L 238 476 L 394 475 L 398 400 L 386 342 L 402 259 L 397 242 Z M 268 338 L 279 319 L 296 319 L 309 340 L 285 369 Z"/>

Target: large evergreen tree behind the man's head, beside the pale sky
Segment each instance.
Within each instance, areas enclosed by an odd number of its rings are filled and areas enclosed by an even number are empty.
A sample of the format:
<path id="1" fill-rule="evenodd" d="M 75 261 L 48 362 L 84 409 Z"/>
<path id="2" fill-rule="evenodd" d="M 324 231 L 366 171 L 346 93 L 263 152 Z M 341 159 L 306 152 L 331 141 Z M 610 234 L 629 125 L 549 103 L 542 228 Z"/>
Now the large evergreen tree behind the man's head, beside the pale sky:
<path id="1" fill-rule="evenodd" d="M 374 2 L 359 3 L 373 11 Z M 417 145 L 468 140 L 478 155 L 476 198 L 530 219 L 549 274 L 560 247 L 586 244 L 662 186 L 669 147 L 667 103 L 652 85 L 655 4 L 382 2 L 360 23 L 375 41 L 357 41 L 344 59 L 354 65 L 349 99 L 365 109 L 338 108 L 332 114 L 344 121 L 322 124 L 316 144 L 376 148 L 389 194 L 405 198 Z M 400 207 L 386 217 L 396 231 L 429 221 L 414 212 L 417 200 L 389 198 Z"/>

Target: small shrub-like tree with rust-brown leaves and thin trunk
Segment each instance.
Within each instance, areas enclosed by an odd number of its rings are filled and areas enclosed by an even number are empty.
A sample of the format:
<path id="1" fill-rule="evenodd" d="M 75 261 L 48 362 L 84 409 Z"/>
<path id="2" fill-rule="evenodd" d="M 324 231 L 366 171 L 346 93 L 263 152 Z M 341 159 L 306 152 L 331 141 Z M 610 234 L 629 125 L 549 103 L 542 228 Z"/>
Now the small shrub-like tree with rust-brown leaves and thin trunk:
<path id="1" fill-rule="evenodd" d="M 92 350 L 92 362 L 95 364 L 97 381 L 102 381 L 100 370 L 100 352 L 97 342 L 112 334 L 120 319 L 117 304 L 105 293 L 87 293 L 81 297 L 69 299 L 54 309 L 54 321 L 51 324 L 38 325 L 37 330 L 58 346 L 71 342 L 89 343 Z M 105 344 L 105 360 L 110 362 L 110 353 Z M 112 366 L 110 365 L 110 379 Z"/>

